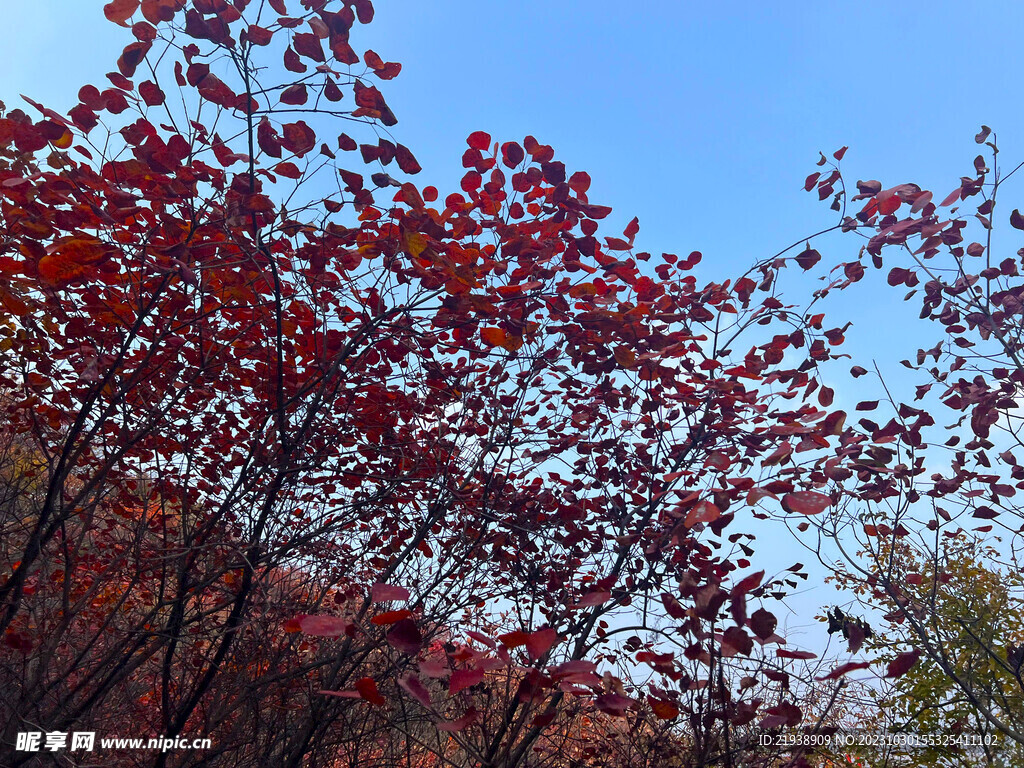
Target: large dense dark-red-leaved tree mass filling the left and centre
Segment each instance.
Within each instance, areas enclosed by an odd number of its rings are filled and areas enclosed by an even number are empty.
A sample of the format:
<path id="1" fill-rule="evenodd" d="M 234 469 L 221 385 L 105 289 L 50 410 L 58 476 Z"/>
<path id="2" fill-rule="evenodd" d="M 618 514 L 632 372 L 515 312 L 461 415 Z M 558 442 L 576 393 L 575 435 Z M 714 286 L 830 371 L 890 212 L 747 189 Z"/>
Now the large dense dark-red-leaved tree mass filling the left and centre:
<path id="1" fill-rule="evenodd" d="M 699 283 L 699 253 L 633 252 L 637 219 L 602 246 L 589 175 L 532 136 L 499 158 L 471 134 L 441 208 L 383 172 L 420 166 L 378 138 L 366 188 L 327 131 L 343 90 L 348 117 L 396 123 L 338 74 L 370 2 L 259 5 L 110 3 L 153 26 L 114 87 L 69 118 L 0 116 L 0 628 L 35 670 L 4 668 L 5 727 L 131 722 L 326 764 L 411 728 L 404 696 L 512 766 L 566 713 L 699 722 L 708 686 L 701 727 L 750 722 L 764 698 L 722 681 L 761 665 L 784 684 L 745 628 L 781 638 L 746 617 L 763 574 L 730 592 L 750 563 L 718 545 L 746 504 L 830 504 L 792 457 L 839 439 L 811 392 L 842 333 L 774 298 L 782 260 Z M 265 90 L 250 57 L 279 38 L 302 82 Z M 330 103 L 294 120 L 317 89 Z M 344 191 L 291 195 L 319 170 Z M 640 605 L 678 647 L 610 631 Z M 654 682 L 598 674 L 620 659 Z"/>

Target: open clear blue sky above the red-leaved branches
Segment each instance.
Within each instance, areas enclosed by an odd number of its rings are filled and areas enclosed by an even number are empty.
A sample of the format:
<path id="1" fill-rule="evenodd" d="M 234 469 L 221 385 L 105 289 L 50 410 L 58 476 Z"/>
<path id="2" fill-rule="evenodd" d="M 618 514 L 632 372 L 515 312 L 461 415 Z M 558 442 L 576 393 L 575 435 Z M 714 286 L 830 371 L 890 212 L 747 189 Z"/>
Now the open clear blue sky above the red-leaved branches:
<path id="1" fill-rule="evenodd" d="M 943 196 L 971 171 L 982 123 L 1008 162 L 1024 159 L 1021 3 L 376 5 L 353 47 L 403 65 L 382 90 L 394 135 L 423 165 L 421 185 L 458 188 L 471 131 L 503 141 L 530 133 L 591 174 L 591 201 L 615 209 L 604 233 L 637 215 L 639 249 L 700 250 L 709 280 L 833 222 L 802 189 L 819 150 L 850 145 L 850 181 L 916 181 Z M 26 93 L 66 110 L 80 85 L 100 82 L 130 42 L 101 9 L 102 0 L 5 3 L 0 100 L 24 105 Z M 820 250 L 842 261 L 857 245 Z M 899 336 L 895 315 L 864 311 L 865 295 L 845 305 L 857 321 L 851 351 L 890 362 L 912 354 L 886 345 Z M 876 295 L 897 310 L 898 295 Z M 841 391 L 837 406 L 857 399 Z M 792 544 L 776 552 L 778 566 L 807 562 Z M 810 604 L 836 598 L 817 594 Z"/>

